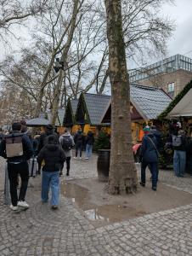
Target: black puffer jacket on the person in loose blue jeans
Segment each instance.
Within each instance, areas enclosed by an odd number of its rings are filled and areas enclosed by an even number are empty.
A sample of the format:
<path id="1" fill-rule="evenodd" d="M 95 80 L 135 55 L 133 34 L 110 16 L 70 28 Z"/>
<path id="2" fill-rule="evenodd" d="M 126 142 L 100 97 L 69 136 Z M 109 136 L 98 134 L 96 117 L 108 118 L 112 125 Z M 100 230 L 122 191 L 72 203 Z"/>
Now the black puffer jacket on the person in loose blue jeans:
<path id="1" fill-rule="evenodd" d="M 60 166 L 65 162 L 64 150 L 59 144 L 46 144 L 37 156 L 39 165 L 44 161 L 42 171 L 45 172 L 59 172 Z"/>

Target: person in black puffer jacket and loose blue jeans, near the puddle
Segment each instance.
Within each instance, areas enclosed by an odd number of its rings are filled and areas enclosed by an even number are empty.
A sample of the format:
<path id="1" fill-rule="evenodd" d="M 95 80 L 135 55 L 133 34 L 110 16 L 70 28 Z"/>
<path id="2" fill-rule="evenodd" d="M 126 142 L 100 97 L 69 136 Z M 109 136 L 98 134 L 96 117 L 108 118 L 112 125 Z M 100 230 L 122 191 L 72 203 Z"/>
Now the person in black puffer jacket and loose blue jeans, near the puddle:
<path id="1" fill-rule="evenodd" d="M 48 192 L 51 188 L 51 207 L 59 207 L 59 170 L 65 162 L 64 150 L 54 135 L 47 137 L 46 145 L 37 156 L 37 162 L 42 166 L 42 202 L 48 202 Z"/>

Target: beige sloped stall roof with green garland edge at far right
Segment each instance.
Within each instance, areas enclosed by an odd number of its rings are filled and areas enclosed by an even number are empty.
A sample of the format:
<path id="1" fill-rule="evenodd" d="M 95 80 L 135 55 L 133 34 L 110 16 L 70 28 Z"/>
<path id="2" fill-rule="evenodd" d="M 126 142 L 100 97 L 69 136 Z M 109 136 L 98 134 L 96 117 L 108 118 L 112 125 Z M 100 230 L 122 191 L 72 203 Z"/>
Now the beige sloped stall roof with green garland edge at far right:
<path id="1" fill-rule="evenodd" d="M 159 119 L 174 118 L 179 116 L 192 116 L 192 80 L 174 98 L 168 107 L 161 113 Z"/>

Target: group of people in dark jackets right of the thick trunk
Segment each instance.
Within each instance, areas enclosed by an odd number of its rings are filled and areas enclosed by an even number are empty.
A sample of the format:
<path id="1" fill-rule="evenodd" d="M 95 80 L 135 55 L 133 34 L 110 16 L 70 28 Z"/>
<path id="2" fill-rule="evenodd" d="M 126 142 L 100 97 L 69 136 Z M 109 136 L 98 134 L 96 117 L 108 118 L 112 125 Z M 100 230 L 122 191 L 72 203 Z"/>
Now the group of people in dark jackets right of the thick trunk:
<path id="1" fill-rule="evenodd" d="M 156 191 L 159 160 L 161 153 L 165 150 L 173 150 L 173 171 L 175 176 L 184 177 L 186 169 L 192 177 L 192 138 L 187 137 L 182 129 L 180 122 L 173 122 L 170 125 L 166 142 L 163 143 L 163 137 L 160 131 L 157 131 L 155 125 L 146 125 L 144 127 L 144 137 L 139 150 L 141 162 L 141 180 L 140 185 L 145 186 L 145 170 L 148 166 L 151 172 L 152 189 Z"/>

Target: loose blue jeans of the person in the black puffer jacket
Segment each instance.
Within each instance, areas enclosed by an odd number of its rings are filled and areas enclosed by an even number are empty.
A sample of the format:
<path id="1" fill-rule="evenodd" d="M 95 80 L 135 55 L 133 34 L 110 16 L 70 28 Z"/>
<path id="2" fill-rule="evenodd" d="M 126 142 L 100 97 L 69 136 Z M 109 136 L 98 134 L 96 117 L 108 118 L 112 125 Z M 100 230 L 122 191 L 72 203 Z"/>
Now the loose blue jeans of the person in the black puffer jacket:
<path id="1" fill-rule="evenodd" d="M 42 171 L 42 201 L 48 201 L 48 192 L 51 187 L 51 205 L 59 205 L 59 172 Z"/>

